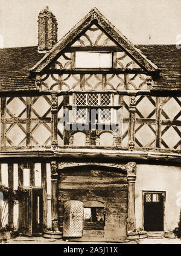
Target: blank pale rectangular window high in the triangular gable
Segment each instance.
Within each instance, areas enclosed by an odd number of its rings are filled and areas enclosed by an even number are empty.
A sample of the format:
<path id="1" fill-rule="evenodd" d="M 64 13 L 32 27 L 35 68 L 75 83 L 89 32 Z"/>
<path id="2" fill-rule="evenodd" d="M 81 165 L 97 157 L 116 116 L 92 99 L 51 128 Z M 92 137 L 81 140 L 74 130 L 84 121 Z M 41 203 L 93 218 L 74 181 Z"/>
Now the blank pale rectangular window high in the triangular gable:
<path id="1" fill-rule="evenodd" d="M 75 68 L 112 68 L 112 53 L 77 51 Z"/>

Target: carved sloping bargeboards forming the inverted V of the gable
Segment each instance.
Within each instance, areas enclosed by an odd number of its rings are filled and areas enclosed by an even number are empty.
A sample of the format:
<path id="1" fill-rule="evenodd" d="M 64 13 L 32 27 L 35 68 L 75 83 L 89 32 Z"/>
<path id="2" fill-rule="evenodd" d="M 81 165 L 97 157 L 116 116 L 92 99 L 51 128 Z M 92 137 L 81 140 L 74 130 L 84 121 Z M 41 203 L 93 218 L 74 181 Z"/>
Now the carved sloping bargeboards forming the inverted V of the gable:
<path id="1" fill-rule="evenodd" d="M 30 72 L 41 72 L 49 63 L 52 62 L 67 46 L 81 37 L 83 31 L 86 31 L 88 26 L 93 22 L 98 23 L 101 30 L 109 35 L 110 39 L 116 43 L 125 53 L 135 60 L 147 72 L 160 71 L 153 62 L 147 59 L 141 51 L 136 48 L 119 30 L 117 30 L 97 8 L 93 8 L 72 30 L 69 31 L 53 48 L 43 56 L 43 58 L 30 69 Z"/>

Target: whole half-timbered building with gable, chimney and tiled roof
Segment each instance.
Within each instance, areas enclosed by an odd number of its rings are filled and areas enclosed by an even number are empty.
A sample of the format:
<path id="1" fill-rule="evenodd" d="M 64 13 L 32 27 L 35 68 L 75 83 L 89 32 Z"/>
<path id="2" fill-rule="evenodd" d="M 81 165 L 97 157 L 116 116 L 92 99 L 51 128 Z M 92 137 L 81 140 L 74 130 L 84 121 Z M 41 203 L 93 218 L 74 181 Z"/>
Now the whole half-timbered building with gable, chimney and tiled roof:
<path id="1" fill-rule="evenodd" d="M 5 223 L 83 241 L 163 232 L 180 214 L 181 54 L 133 45 L 97 8 L 57 41 L 0 50 L 0 182 L 25 188 Z"/>

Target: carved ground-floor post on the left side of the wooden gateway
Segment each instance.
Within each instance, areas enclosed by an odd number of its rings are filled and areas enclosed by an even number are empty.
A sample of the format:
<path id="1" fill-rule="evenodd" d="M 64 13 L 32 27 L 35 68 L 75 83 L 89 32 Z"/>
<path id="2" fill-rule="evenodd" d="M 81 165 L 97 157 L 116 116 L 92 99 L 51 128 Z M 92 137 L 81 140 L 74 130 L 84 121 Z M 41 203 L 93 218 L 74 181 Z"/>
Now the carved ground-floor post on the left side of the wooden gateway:
<path id="1" fill-rule="evenodd" d="M 51 209 L 52 209 L 52 230 L 59 231 L 58 225 L 58 164 L 51 161 Z"/>

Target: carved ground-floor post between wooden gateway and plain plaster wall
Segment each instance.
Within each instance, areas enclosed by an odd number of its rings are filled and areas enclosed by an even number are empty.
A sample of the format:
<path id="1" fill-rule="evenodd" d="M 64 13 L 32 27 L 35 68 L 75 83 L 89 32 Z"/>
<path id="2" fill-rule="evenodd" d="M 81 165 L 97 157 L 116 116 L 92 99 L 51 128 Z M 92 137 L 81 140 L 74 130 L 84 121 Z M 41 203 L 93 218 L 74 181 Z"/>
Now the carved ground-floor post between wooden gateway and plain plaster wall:
<path id="1" fill-rule="evenodd" d="M 129 184 L 127 231 L 135 229 L 135 181 L 136 162 L 129 162 L 127 164 L 127 182 Z"/>

